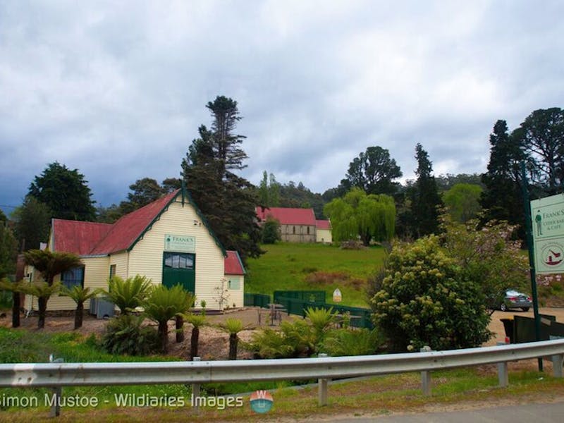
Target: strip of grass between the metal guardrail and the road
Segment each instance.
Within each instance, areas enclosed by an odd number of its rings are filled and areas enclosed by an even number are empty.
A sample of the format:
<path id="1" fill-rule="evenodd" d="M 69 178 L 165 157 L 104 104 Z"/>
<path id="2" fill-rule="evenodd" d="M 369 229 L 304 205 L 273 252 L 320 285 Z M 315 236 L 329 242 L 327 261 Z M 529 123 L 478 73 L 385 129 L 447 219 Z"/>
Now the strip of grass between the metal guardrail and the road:
<path id="1" fill-rule="evenodd" d="M 493 369 L 484 373 L 484 369 L 458 369 L 433 374 L 433 394 L 423 396 L 419 388 L 419 374 L 399 374 L 378 376 L 361 381 L 350 381 L 329 386 L 329 405 L 317 405 L 317 387 L 303 389 L 283 388 L 271 391 L 274 406 L 270 412 L 261 415 L 250 408 L 248 396 L 243 398 L 241 407 L 204 407 L 199 414 L 192 409 L 190 398 L 182 407 L 118 407 L 109 404 L 98 407 L 69 408 L 63 407 L 61 422 L 73 422 L 77 419 L 104 420 L 108 422 L 141 422 L 155 419 L 159 422 L 196 422 L 214 420 L 223 422 L 249 421 L 259 422 L 279 419 L 317 419 L 331 415 L 374 417 L 396 412 L 421 412 L 425 410 L 445 410 L 455 407 L 495 406 L 510 403 L 525 403 L 534 400 L 549 401 L 561 398 L 564 394 L 564 382 L 538 372 L 510 373 L 510 386 L 498 388 L 497 376 Z M 144 387 L 140 388 L 142 390 Z M 145 387 L 145 390 L 147 387 Z M 122 393 L 129 392 L 128 387 L 120 388 Z M 20 390 L 21 391 L 21 390 Z M 66 395 L 73 391 L 64 390 Z M 84 395 L 87 392 L 83 392 Z M 99 393 L 92 391 L 92 395 Z M 161 396 L 175 395 L 163 388 Z M 47 407 L 28 410 L 10 409 L 4 416 L 10 421 L 29 421 L 47 417 Z"/>

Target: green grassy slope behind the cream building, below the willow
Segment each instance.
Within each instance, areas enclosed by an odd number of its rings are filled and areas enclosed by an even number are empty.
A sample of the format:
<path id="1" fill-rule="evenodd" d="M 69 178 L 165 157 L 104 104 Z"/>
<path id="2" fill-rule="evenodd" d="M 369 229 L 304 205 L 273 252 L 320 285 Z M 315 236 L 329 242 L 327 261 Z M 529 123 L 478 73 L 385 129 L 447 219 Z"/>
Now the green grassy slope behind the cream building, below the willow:
<path id="1" fill-rule="evenodd" d="M 384 259 L 382 247 L 341 250 L 332 245 L 277 243 L 262 248 L 264 255 L 248 260 L 246 293 L 325 290 L 327 302 L 331 302 L 333 290 L 339 288 L 342 304 L 357 307 L 367 307 L 367 277 Z"/>

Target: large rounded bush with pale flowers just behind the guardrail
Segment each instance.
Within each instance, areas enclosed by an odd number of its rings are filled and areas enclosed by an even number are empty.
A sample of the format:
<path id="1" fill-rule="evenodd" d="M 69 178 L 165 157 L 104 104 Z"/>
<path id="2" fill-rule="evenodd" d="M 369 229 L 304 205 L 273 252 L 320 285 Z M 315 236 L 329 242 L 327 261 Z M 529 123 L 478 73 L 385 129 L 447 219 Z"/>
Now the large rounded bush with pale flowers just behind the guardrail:
<path id="1" fill-rule="evenodd" d="M 374 322 L 391 350 L 470 348 L 489 339 L 479 283 L 464 278 L 436 236 L 395 245 L 382 276 L 372 299 Z"/>

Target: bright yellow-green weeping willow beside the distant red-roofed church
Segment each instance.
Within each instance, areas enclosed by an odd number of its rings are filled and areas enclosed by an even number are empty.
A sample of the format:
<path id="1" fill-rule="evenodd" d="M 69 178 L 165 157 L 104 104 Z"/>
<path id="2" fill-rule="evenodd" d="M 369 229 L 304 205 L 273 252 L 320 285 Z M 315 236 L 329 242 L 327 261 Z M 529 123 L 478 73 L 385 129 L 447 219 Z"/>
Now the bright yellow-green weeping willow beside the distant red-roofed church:
<path id="1" fill-rule="evenodd" d="M 331 219 L 333 239 L 359 238 L 364 245 L 371 240 L 389 241 L 396 226 L 396 204 L 384 194 L 370 194 L 353 188 L 345 197 L 326 204 L 324 213 Z"/>

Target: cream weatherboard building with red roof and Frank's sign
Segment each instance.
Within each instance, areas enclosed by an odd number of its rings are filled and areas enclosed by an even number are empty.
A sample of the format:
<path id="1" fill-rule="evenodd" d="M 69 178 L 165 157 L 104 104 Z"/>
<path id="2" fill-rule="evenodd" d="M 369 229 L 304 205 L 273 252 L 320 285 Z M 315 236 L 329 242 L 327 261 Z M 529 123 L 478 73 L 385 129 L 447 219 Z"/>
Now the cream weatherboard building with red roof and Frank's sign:
<path id="1" fill-rule="evenodd" d="M 245 269 L 238 252 L 226 251 L 183 190 L 122 216 L 113 224 L 53 219 L 47 248 L 72 252 L 83 266 L 56 277 L 66 286 L 107 288 L 111 276 L 147 276 L 154 284 L 178 283 L 208 309 L 243 307 Z M 27 269 L 30 279 L 40 275 Z M 54 295 L 48 310 L 71 310 L 70 298 Z M 88 307 L 85 304 L 85 307 Z M 37 309 L 27 296 L 26 309 Z"/>

